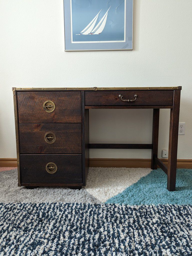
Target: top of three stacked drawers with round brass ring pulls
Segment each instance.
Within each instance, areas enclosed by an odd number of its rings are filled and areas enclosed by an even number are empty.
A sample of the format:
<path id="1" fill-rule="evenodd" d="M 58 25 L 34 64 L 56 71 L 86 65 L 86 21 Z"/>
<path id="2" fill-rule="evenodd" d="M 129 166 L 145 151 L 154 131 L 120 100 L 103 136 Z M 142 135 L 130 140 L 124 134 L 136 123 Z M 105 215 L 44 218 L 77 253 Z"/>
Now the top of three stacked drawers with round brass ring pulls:
<path id="1" fill-rule="evenodd" d="M 19 123 L 81 123 L 81 92 L 17 92 Z"/>

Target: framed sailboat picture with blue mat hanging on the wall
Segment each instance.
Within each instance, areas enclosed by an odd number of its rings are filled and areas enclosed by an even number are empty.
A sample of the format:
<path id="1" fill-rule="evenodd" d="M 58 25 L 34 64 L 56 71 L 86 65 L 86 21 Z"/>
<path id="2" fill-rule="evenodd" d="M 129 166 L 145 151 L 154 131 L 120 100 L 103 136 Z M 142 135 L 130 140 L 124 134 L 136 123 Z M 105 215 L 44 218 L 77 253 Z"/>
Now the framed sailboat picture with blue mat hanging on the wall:
<path id="1" fill-rule="evenodd" d="M 133 0 L 63 0 L 65 51 L 133 49 Z"/>

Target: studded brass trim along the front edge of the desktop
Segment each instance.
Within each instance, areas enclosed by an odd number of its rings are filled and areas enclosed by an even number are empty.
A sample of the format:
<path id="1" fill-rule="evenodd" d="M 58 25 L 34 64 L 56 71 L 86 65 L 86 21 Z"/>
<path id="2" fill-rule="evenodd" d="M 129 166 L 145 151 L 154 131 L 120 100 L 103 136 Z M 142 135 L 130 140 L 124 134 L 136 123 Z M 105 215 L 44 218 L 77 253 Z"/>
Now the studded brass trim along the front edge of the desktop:
<path id="1" fill-rule="evenodd" d="M 15 88 L 13 91 L 137 91 L 137 90 L 181 90 L 181 86 L 176 87 L 75 87 L 75 88 Z"/>

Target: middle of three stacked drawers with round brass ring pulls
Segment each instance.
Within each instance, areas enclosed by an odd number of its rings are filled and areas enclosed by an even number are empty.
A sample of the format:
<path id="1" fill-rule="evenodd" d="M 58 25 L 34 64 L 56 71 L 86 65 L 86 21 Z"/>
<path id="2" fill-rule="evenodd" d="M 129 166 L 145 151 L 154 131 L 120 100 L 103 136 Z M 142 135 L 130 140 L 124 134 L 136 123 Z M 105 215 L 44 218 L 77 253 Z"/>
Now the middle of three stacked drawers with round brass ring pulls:
<path id="1" fill-rule="evenodd" d="M 81 124 L 19 124 L 20 154 L 81 154 Z"/>

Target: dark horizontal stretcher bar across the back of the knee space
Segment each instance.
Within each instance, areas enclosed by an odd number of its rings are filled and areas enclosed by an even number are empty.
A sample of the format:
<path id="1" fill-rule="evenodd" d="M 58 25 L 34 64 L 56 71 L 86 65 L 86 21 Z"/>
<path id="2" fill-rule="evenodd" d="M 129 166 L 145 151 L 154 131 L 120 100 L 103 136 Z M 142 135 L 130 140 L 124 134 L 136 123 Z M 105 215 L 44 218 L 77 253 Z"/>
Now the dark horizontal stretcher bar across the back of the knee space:
<path id="1" fill-rule="evenodd" d="M 90 143 L 89 148 L 112 148 L 112 149 L 152 149 L 152 144 L 102 144 Z"/>

